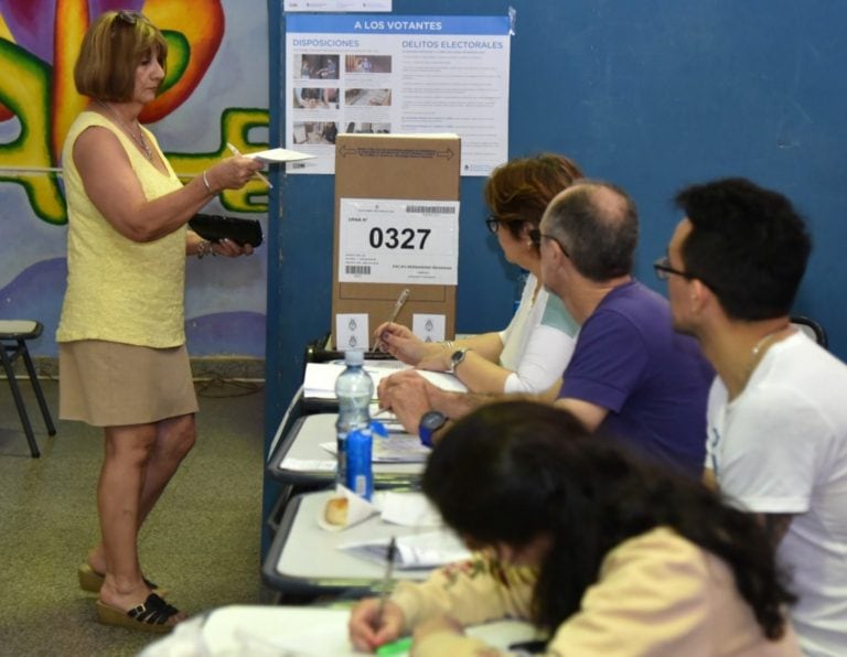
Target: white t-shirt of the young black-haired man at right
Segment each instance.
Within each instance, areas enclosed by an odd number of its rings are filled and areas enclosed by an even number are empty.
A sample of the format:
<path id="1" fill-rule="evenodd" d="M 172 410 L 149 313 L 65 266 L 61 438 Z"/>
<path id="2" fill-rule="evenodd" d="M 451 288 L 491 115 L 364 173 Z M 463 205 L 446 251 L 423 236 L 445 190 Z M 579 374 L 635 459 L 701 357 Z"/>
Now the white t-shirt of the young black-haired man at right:
<path id="1" fill-rule="evenodd" d="M 706 466 L 730 502 L 793 515 L 778 559 L 803 651 L 847 655 L 847 365 L 797 332 L 730 403 L 715 379 L 708 432 Z"/>

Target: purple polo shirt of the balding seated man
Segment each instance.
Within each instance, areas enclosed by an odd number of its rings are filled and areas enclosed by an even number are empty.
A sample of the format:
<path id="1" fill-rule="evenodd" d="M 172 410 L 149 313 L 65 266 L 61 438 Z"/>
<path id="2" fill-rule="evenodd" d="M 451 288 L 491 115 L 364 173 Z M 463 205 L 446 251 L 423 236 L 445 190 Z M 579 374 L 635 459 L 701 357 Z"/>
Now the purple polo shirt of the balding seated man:
<path id="1" fill-rule="evenodd" d="M 600 433 L 699 477 L 714 378 L 697 342 L 673 330 L 667 300 L 631 281 L 582 324 L 559 398 L 608 409 Z"/>

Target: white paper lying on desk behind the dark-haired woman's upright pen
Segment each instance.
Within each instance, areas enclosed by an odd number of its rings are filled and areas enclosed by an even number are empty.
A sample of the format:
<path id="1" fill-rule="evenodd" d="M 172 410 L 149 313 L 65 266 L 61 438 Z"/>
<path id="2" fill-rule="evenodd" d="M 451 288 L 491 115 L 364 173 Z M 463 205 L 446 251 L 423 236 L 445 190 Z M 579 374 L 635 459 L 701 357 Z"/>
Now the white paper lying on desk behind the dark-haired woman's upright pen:
<path id="1" fill-rule="evenodd" d="M 390 538 L 342 543 L 340 550 L 368 561 L 385 563 Z M 431 569 L 469 559 L 471 553 L 457 536 L 448 530 L 428 531 L 397 537 L 394 567 L 399 570 Z"/>

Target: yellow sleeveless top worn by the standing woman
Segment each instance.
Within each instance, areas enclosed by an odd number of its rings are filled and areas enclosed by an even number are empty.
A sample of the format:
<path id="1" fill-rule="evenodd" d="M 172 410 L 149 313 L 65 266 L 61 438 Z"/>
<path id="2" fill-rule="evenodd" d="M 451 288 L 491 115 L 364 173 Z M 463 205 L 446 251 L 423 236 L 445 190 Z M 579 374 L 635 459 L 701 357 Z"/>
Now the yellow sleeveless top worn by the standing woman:
<path id="1" fill-rule="evenodd" d="M 182 186 L 149 131 L 144 130 L 144 137 L 165 163 L 167 174 L 106 118 L 93 111 L 76 118 L 62 152 L 68 223 L 67 291 L 56 341 L 105 340 L 157 348 L 182 345 L 185 227 L 149 243 L 132 241 L 112 228 L 88 198 L 74 164 L 74 143 L 92 126 L 101 126 L 118 137 L 148 200 Z"/>

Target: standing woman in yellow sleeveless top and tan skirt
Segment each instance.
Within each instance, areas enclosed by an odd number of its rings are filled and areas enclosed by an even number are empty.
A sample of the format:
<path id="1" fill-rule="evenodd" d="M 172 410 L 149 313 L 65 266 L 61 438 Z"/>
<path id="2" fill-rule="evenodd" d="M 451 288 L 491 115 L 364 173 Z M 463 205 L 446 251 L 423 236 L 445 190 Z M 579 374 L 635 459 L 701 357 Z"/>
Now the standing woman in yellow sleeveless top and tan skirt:
<path id="1" fill-rule="evenodd" d="M 60 417 L 103 427 L 100 543 L 79 569 L 103 623 L 167 632 L 185 614 L 154 594 L 138 530 L 195 440 L 197 401 L 185 351 L 185 256 L 249 255 L 211 244 L 187 220 L 260 168 L 224 160 L 183 184 L 138 122 L 164 79 L 168 46 L 142 14 L 108 11 L 74 68 L 90 98 L 63 150 L 67 291 L 60 343 Z"/>

